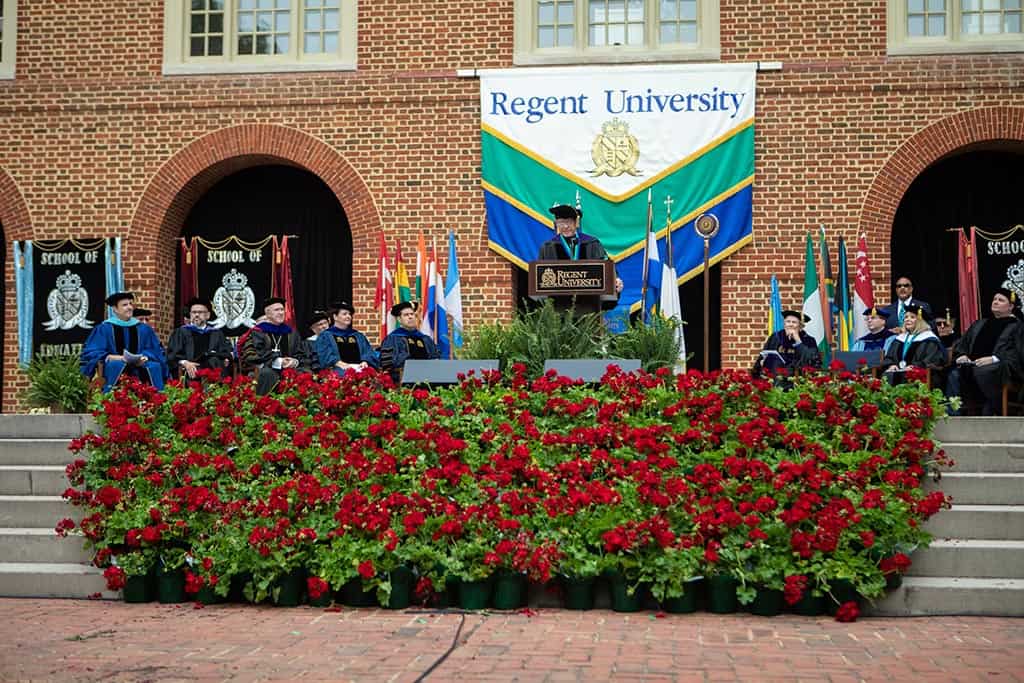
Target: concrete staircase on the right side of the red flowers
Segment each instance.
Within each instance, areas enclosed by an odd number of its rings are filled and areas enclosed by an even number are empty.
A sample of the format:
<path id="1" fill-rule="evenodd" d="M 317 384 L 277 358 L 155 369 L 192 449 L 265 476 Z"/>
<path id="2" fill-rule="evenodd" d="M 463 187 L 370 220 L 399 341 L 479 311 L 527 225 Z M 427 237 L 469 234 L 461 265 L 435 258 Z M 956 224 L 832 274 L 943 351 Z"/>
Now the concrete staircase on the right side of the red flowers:
<path id="1" fill-rule="evenodd" d="M 935 540 L 868 613 L 1024 616 L 1024 418 L 949 418 L 935 439 L 953 466 L 926 486 L 953 507 L 929 520 Z"/>

